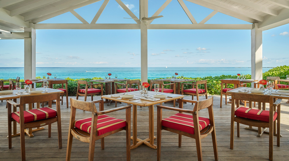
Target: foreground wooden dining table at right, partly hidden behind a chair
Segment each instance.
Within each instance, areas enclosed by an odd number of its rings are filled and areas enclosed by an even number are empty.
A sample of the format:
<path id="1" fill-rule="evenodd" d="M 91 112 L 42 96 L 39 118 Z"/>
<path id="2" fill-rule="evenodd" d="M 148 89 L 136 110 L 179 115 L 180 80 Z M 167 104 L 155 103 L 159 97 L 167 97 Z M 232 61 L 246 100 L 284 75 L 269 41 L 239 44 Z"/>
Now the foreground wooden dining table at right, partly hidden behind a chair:
<path id="1" fill-rule="evenodd" d="M 238 93 L 239 91 L 244 91 L 245 89 L 250 90 L 250 91 L 251 90 L 259 90 L 259 88 L 239 87 L 239 88 L 227 91 L 227 93 L 233 93 L 233 92 Z M 271 95 L 271 96 L 273 96 L 274 102 L 276 101 L 276 99 L 289 99 L 289 93 L 278 92 L 279 90 L 277 90 L 277 89 L 272 89 L 272 91 L 273 91 L 272 93 L 269 93 L 268 89 L 265 89 L 265 91 L 261 94 L 251 93 L 251 92 L 247 92 L 246 94 L 250 95 L 251 97 L 254 97 L 254 95 Z M 266 109 L 265 103 L 262 103 L 262 104 L 263 104 L 262 109 L 265 110 Z M 259 105 L 258 108 L 261 108 L 261 106 Z M 276 127 L 276 124 L 274 125 L 274 127 Z M 267 128 L 265 128 L 264 130 L 262 130 L 262 128 L 258 128 L 258 130 L 257 130 L 257 129 L 253 129 L 251 126 L 249 126 L 249 127 L 245 127 L 245 129 L 258 131 L 258 134 L 257 134 L 258 137 L 261 137 L 262 134 L 264 134 L 264 133 L 269 134 L 269 132 L 265 131 Z M 276 128 L 274 128 L 274 135 L 277 135 Z M 280 135 L 280 136 L 282 137 L 282 135 Z"/>

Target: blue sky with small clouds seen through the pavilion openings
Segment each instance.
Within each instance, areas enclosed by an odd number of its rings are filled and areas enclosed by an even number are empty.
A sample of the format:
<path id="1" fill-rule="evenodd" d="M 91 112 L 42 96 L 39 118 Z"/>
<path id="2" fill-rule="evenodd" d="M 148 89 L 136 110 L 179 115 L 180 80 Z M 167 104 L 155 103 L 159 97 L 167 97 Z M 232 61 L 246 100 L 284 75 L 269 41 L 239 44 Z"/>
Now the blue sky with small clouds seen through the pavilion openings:
<path id="1" fill-rule="evenodd" d="M 103 1 L 75 11 L 89 23 Z M 139 1 L 123 1 L 139 17 Z M 149 16 L 165 0 L 149 0 Z M 197 22 L 213 10 L 184 1 Z M 173 0 L 152 24 L 191 24 Z M 97 23 L 136 23 L 109 1 Z M 41 23 L 81 23 L 64 13 Z M 250 24 L 217 13 L 206 24 Z M 263 66 L 289 63 L 289 24 L 263 31 Z M 24 67 L 24 40 L 0 41 L 0 67 Z M 139 67 L 140 30 L 37 30 L 36 67 Z M 250 30 L 148 30 L 149 67 L 250 67 Z"/>

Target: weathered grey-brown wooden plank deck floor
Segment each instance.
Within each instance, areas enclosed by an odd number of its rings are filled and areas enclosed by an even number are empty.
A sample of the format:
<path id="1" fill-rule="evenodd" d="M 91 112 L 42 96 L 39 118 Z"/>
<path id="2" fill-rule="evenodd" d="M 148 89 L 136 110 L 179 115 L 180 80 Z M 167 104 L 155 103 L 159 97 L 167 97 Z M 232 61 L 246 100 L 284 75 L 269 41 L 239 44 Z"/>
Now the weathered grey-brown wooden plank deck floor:
<path id="1" fill-rule="evenodd" d="M 94 100 L 100 97 L 94 97 Z M 186 96 L 190 99 L 191 97 Z M 83 99 L 83 97 L 80 97 Z M 203 99 L 203 97 L 202 97 Z M 65 100 L 65 98 L 64 98 Z M 88 97 L 88 101 L 90 97 Z M 224 102 L 223 102 L 224 103 Z M 172 106 L 171 103 L 164 105 Z M 12 148 L 8 149 L 7 139 L 7 109 L 6 102 L 0 103 L 0 160 L 21 160 L 20 137 L 12 138 Z M 55 106 L 55 105 L 54 105 Z M 120 106 L 120 104 L 118 104 Z M 184 104 L 184 108 L 192 109 L 191 104 Z M 235 131 L 234 150 L 230 150 L 230 108 L 231 105 L 224 105 L 220 108 L 220 96 L 214 96 L 214 115 L 216 123 L 217 145 L 219 160 L 268 160 L 268 134 L 257 137 L 255 131 L 244 129 L 240 125 L 240 137 L 237 138 Z M 281 106 L 281 143 L 276 146 L 274 137 L 274 160 L 289 160 L 289 104 L 282 101 Z M 105 109 L 114 108 L 114 104 L 105 105 Z M 52 124 L 52 137 L 48 138 L 47 128 L 42 131 L 34 132 L 34 137 L 25 136 L 26 159 L 27 160 L 65 160 L 67 135 L 69 126 L 70 108 L 66 108 L 63 102 L 61 106 L 62 124 L 62 144 L 63 148 L 58 149 L 57 125 Z M 138 137 L 145 139 L 148 137 L 148 108 L 138 106 Z M 175 112 L 164 110 L 163 118 L 169 117 Z M 208 116 L 207 110 L 201 110 L 201 116 Z M 125 111 L 111 113 L 110 116 L 125 119 Z M 90 112 L 77 111 L 77 119 L 91 117 Z M 156 136 L 156 106 L 155 106 L 155 136 Z M 44 126 L 46 127 L 46 126 Z M 236 126 L 235 126 L 236 127 Z M 19 131 L 19 128 L 17 128 Z M 162 160 L 197 160 L 195 140 L 183 137 L 182 147 L 178 147 L 178 135 L 168 131 L 162 132 Z M 155 140 L 156 142 L 156 140 Z M 105 149 L 101 150 L 100 141 L 97 141 L 94 160 L 126 160 L 125 131 L 118 132 L 105 138 Z M 72 145 L 72 160 L 88 160 L 88 143 L 82 143 L 76 139 Z M 203 160 L 214 160 L 211 135 L 202 140 Z M 141 145 L 131 150 L 131 160 L 150 161 L 156 160 L 156 150 L 145 145 Z"/>

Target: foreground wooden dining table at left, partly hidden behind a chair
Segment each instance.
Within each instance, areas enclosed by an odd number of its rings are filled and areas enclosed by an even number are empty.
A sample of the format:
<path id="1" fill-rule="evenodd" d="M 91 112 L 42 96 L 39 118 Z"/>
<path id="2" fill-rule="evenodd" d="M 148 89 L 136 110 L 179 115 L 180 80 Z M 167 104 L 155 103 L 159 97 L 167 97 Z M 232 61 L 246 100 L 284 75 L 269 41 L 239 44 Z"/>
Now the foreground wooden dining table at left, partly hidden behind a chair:
<path id="1" fill-rule="evenodd" d="M 44 91 L 45 88 L 41 87 L 41 88 L 31 88 L 30 91 L 38 91 L 38 90 L 42 90 Z M 47 93 L 42 92 L 42 93 L 38 93 L 38 94 L 28 94 L 28 95 L 46 95 L 46 94 L 50 94 L 50 93 L 64 93 L 61 90 L 58 89 L 51 89 L 51 88 L 47 88 Z M 18 92 L 18 90 L 14 90 L 12 94 L 7 94 L 7 95 L 0 95 L 0 100 L 13 100 L 14 102 L 16 102 L 16 99 L 20 98 L 21 96 L 16 95 L 16 93 Z M 24 92 L 24 89 L 20 89 L 19 92 Z M 27 95 L 23 95 L 23 96 L 27 96 Z M 51 107 L 51 101 L 49 101 L 49 107 Z M 24 106 L 25 108 L 25 106 Z M 40 103 L 37 103 L 37 108 L 40 108 Z M 29 104 L 29 110 L 32 109 L 32 104 Z M 26 109 L 24 109 L 26 110 Z M 13 112 L 16 112 L 17 109 L 16 107 L 13 106 Z M 25 129 L 25 133 L 29 136 L 29 137 L 33 137 L 34 135 L 32 134 L 32 132 L 34 131 L 39 131 L 39 130 L 43 130 L 44 127 L 38 127 L 36 129 Z M 16 121 L 13 121 L 13 134 L 12 137 L 18 136 L 20 135 L 20 133 L 17 133 L 17 129 L 16 129 Z"/>

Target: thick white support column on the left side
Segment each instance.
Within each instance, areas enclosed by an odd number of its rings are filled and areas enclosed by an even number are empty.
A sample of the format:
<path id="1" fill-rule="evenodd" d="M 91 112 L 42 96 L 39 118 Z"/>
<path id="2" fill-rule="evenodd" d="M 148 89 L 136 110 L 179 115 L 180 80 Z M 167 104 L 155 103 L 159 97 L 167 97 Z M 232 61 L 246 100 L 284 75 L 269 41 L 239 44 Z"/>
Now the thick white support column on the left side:
<path id="1" fill-rule="evenodd" d="M 29 37 L 24 38 L 24 79 L 34 79 L 36 77 L 36 32 L 34 24 L 29 23 L 29 28 L 24 28 L 24 32 L 29 33 Z"/>

